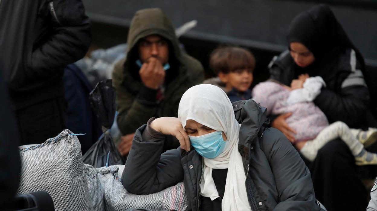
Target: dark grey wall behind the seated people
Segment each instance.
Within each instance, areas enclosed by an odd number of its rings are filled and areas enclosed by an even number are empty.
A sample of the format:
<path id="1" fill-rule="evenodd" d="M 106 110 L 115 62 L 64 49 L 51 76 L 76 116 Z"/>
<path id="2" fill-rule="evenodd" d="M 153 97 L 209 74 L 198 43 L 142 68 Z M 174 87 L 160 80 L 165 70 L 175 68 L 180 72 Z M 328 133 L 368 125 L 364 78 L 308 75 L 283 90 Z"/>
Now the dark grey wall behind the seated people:
<path id="1" fill-rule="evenodd" d="M 129 26 L 138 9 L 159 7 L 178 27 L 190 20 L 198 25 L 186 38 L 234 43 L 250 48 L 280 51 L 285 48 L 290 21 L 313 1 L 288 0 L 83 0 L 95 22 Z M 323 1 L 322 1 L 323 2 Z M 325 1 L 326 2 L 326 1 Z M 331 2 L 331 1 L 327 1 Z M 370 0 L 330 5 L 352 42 L 369 64 L 377 66 L 377 9 Z M 347 3 L 348 2 L 348 3 Z M 350 3 L 353 2 L 353 3 Z M 358 2 L 358 4 L 355 3 Z M 369 7 L 368 7 L 369 3 Z"/>

